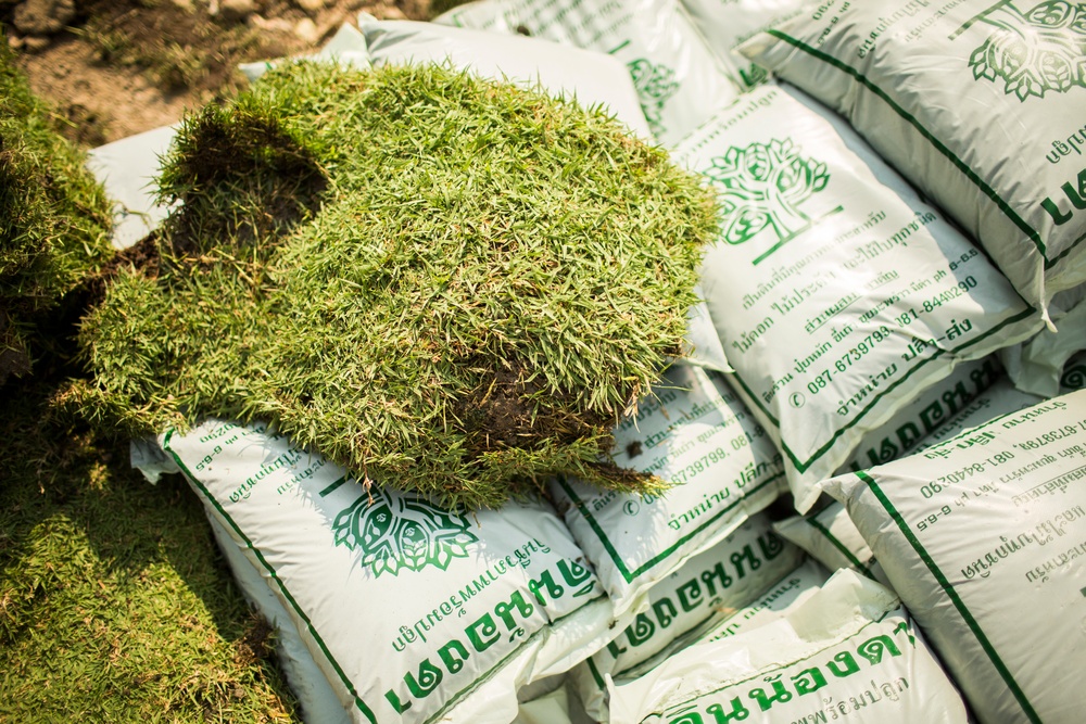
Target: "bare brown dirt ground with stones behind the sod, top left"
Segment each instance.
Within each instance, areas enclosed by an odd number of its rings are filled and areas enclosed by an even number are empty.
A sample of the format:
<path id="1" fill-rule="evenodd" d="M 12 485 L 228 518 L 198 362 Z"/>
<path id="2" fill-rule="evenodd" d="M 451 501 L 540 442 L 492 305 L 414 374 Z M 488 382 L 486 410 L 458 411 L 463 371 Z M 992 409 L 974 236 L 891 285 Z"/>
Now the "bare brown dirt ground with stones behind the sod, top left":
<path id="1" fill-rule="evenodd" d="M 447 4 L 447 3 L 446 3 Z M 244 84 L 239 63 L 319 47 L 359 11 L 428 20 L 430 0 L 0 0 L 30 86 L 92 148 Z"/>

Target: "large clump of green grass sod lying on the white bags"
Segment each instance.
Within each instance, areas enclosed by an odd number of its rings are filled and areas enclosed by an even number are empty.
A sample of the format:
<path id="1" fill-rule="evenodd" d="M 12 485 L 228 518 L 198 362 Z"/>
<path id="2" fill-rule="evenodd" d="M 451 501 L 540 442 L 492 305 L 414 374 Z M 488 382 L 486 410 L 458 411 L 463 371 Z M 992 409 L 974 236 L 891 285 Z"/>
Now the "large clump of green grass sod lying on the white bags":
<path id="1" fill-rule="evenodd" d="M 188 118 L 162 189 L 159 271 L 85 325 L 96 381 L 67 402 L 91 419 L 267 420 L 449 505 L 662 485 L 601 459 L 680 353 L 716 201 L 599 110 L 296 64 Z"/>

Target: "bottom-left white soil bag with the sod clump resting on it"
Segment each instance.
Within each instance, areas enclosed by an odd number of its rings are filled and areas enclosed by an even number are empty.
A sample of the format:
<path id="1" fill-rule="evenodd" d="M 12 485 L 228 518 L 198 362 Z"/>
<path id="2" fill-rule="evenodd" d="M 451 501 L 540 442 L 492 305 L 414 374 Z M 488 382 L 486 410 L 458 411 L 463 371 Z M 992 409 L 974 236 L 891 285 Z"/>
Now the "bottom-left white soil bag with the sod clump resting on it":
<path id="1" fill-rule="evenodd" d="M 614 635 L 603 588 L 541 504 L 446 510 L 261 425 L 209 421 L 159 443 L 354 722 L 509 722 L 521 686 Z"/>

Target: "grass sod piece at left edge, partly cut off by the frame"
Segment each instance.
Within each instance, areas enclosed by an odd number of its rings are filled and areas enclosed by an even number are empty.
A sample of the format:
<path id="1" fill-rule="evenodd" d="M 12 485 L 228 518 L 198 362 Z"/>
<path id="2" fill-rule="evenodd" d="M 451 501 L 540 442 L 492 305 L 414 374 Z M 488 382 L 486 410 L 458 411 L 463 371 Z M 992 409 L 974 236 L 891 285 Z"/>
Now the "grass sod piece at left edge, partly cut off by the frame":
<path id="1" fill-rule="evenodd" d="M 113 255 L 111 227 L 83 153 L 0 43 L 0 385 L 60 348 L 56 315 Z"/>

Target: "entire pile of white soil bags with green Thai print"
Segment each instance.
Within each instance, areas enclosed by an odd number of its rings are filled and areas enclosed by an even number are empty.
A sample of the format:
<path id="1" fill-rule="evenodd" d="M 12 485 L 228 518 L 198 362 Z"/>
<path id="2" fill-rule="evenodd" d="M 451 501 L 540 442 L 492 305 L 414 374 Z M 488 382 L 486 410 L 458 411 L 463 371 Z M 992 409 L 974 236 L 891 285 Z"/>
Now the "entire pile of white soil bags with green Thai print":
<path id="1" fill-rule="evenodd" d="M 307 721 L 1075 719 L 1086 8 L 481 0 L 359 25 L 326 54 L 607 103 L 724 213 L 689 356 L 615 429 L 661 497 L 558 479 L 469 512 L 261 425 L 134 444 L 205 503 Z"/>

